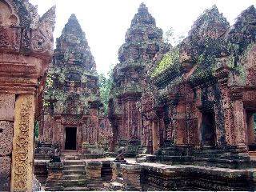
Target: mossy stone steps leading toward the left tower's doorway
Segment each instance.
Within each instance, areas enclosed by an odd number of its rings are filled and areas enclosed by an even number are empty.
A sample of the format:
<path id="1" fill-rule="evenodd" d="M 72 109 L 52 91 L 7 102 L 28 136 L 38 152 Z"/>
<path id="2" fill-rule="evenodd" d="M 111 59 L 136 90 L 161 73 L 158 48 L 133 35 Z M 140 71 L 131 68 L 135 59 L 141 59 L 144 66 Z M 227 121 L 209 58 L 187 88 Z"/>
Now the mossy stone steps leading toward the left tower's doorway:
<path id="1" fill-rule="evenodd" d="M 63 186 L 68 191 L 85 191 L 86 170 L 82 160 L 64 160 Z"/>

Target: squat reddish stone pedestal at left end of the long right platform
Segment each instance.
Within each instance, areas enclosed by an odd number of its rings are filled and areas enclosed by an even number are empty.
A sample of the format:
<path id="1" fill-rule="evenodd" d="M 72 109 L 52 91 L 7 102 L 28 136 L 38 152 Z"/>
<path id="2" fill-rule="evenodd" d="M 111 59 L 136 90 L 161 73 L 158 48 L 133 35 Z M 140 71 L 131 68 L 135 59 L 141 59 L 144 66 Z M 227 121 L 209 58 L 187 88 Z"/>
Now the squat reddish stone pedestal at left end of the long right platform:
<path id="1" fill-rule="evenodd" d="M 123 186 L 122 190 L 142 190 L 142 166 L 136 164 L 121 164 Z"/>

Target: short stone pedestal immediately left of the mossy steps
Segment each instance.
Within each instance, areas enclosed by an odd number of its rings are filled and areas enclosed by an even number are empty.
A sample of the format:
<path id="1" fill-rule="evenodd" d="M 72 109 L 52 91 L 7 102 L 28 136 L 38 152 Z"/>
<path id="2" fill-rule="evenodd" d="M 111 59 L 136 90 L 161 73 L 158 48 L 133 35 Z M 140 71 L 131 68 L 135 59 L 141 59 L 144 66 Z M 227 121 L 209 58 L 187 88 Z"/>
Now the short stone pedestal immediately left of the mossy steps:
<path id="1" fill-rule="evenodd" d="M 47 164 L 48 177 L 46 180 L 46 190 L 63 190 L 63 163 L 49 162 Z"/>

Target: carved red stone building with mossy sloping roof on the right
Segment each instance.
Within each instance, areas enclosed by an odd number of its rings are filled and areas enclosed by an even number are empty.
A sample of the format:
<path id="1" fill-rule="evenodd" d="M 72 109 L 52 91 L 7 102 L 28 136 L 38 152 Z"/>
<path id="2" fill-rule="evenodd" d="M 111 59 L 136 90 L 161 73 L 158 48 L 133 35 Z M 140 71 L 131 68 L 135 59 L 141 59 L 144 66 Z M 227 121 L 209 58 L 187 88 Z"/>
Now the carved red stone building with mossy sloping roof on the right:
<path id="1" fill-rule="evenodd" d="M 149 124 L 158 124 L 159 153 L 184 154 L 192 147 L 194 153 L 213 149 L 226 154 L 253 148 L 254 16 L 251 6 L 230 27 L 213 6 L 180 45 L 155 59 L 151 81 L 156 91 L 143 95 L 142 112 L 157 114 Z"/>

